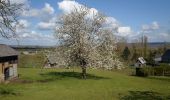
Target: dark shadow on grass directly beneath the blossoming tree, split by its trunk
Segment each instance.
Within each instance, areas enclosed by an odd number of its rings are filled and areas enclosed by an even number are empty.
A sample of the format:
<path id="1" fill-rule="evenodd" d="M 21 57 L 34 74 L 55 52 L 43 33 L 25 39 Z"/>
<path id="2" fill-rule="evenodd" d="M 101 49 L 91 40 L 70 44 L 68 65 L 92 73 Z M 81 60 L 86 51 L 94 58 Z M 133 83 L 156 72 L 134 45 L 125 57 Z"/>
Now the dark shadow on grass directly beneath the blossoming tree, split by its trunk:
<path id="1" fill-rule="evenodd" d="M 76 78 L 76 79 L 82 79 L 81 73 L 79 72 L 49 72 L 45 74 L 40 74 L 44 77 L 52 77 L 56 79 L 64 79 L 64 78 Z M 95 76 L 93 74 L 87 74 L 86 79 L 94 79 L 94 80 L 99 80 L 99 79 L 109 79 L 107 77 L 101 77 L 101 76 Z"/>

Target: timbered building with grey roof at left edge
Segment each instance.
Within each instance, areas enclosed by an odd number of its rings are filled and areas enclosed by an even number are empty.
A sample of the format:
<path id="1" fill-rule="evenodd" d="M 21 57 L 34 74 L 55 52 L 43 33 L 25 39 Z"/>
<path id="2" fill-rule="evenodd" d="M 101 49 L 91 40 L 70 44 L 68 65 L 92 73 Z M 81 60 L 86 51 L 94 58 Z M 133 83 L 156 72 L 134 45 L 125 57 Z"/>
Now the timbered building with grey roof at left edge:
<path id="1" fill-rule="evenodd" d="M 11 47 L 0 44 L 0 82 L 18 76 L 18 52 Z"/>

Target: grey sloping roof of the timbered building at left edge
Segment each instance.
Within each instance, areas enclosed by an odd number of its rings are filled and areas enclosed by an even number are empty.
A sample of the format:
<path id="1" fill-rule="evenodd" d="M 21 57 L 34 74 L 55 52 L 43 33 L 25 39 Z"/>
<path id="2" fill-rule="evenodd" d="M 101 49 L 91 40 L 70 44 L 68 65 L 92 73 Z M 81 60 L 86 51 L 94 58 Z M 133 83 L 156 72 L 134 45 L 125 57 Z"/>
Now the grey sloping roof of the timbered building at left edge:
<path id="1" fill-rule="evenodd" d="M 18 55 L 18 52 L 15 51 L 13 48 L 0 44 L 0 57 L 7 57 L 7 56 L 15 56 Z"/>

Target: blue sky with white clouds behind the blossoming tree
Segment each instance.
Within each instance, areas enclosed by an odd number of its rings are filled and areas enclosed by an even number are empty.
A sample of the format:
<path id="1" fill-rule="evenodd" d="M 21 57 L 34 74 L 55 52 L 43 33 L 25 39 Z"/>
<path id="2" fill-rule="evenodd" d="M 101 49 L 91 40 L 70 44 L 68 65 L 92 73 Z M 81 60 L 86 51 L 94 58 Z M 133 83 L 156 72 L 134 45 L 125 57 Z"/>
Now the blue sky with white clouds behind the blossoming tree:
<path id="1" fill-rule="evenodd" d="M 117 27 L 115 35 L 129 42 L 142 35 L 149 42 L 170 42 L 170 0 L 11 0 L 25 3 L 17 33 L 21 45 L 55 45 L 53 27 L 56 16 L 68 13 L 73 6 L 86 5 L 92 11 L 108 16 L 108 23 Z M 14 39 L 0 38 L 0 43 L 17 44 Z"/>

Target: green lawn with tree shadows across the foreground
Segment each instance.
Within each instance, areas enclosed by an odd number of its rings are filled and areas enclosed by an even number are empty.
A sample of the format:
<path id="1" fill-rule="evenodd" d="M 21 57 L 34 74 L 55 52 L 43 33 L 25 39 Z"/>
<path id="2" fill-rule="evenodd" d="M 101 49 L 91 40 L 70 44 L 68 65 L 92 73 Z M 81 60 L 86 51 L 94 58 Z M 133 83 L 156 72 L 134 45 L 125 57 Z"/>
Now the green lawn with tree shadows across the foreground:
<path id="1" fill-rule="evenodd" d="M 19 68 L 19 80 L 0 84 L 0 100 L 166 100 L 170 77 L 135 77 L 122 72 Z M 142 98 L 142 99 L 141 99 Z"/>

